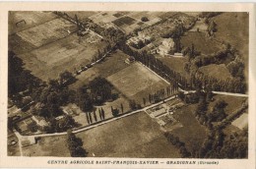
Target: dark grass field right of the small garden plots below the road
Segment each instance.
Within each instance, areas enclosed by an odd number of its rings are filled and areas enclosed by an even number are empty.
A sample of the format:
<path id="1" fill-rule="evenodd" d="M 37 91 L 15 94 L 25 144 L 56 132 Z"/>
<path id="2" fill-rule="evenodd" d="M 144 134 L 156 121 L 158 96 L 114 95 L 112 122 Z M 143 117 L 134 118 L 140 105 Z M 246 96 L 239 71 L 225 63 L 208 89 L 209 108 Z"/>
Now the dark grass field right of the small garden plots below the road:
<path id="1" fill-rule="evenodd" d="M 207 137 L 206 127 L 200 125 L 193 114 L 195 108 L 196 104 L 191 104 L 177 109 L 174 113 L 174 118 L 178 120 L 183 127 L 171 131 L 171 134 L 177 136 L 180 141 L 185 142 L 186 147 L 190 151 L 193 149 L 200 149 Z"/>

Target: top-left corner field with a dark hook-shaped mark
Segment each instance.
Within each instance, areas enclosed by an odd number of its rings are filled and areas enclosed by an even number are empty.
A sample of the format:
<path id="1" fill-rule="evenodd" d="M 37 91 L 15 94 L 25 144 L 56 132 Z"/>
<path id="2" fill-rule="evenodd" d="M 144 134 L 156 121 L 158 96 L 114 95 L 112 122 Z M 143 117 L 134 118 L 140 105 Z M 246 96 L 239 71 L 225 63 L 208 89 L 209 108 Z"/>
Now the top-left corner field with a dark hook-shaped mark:
<path id="1" fill-rule="evenodd" d="M 9 34 L 32 28 L 57 18 L 51 12 L 42 11 L 10 11 L 8 17 Z"/>

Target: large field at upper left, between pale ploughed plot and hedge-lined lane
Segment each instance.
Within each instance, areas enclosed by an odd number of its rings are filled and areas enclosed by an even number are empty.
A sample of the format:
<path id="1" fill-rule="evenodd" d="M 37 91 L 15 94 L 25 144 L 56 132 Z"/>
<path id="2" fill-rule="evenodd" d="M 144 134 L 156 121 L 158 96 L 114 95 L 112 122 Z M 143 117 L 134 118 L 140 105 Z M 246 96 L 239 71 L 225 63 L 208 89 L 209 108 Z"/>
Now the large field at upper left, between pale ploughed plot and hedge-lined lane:
<path id="1" fill-rule="evenodd" d="M 79 38 L 71 34 L 50 44 L 43 45 L 29 53 L 20 55 L 25 62 L 25 68 L 43 81 L 56 79 L 65 70 L 74 72 L 81 65 L 92 62 L 97 49 L 106 45 L 105 41 L 89 43 L 90 34 Z"/>

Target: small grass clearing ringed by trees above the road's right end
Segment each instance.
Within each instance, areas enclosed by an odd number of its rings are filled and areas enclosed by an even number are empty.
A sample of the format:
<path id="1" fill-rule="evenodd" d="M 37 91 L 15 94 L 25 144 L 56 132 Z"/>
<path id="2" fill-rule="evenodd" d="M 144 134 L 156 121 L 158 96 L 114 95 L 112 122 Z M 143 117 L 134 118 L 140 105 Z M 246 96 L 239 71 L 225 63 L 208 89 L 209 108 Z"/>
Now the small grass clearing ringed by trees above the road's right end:
<path id="1" fill-rule="evenodd" d="M 231 74 L 227 70 L 224 64 L 217 65 L 211 64 L 204 67 L 199 68 L 199 71 L 204 75 L 213 77 L 219 80 L 232 79 Z"/>

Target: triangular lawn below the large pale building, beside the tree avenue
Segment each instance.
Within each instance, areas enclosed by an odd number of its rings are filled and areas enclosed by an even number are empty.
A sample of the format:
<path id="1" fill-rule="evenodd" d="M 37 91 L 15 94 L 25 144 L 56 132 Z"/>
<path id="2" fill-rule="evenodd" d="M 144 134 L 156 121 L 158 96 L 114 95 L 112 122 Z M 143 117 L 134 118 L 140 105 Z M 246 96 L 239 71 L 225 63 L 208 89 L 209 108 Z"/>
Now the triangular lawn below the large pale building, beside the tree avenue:
<path id="1" fill-rule="evenodd" d="M 184 65 L 188 61 L 186 57 L 175 58 L 175 57 L 160 57 L 160 61 L 165 64 L 169 69 L 180 73 L 183 77 L 188 77 L 189 75 L 184 70 Z"/>

